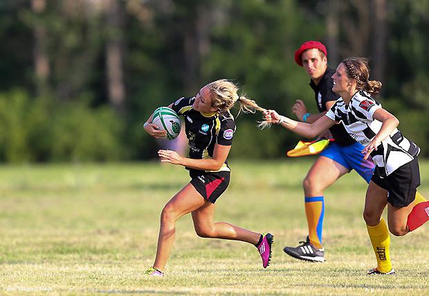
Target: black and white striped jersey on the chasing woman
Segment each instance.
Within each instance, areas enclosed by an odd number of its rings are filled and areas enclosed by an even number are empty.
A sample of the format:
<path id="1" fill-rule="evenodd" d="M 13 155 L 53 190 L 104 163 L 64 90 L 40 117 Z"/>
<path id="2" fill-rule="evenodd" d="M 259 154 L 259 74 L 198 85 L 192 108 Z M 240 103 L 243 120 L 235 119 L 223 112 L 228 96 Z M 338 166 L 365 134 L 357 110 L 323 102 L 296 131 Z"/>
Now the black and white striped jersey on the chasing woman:
<path id="1" fill-rule="evenodd" d="M 326 116 L 334 121 L 341 121 L 350 137 L 363 146 L 367 146 L 383 124 L 373 117 L 374 112 L 378 109 L 381 109 L 380 103 L 367 92 L 359 91 L 354 94 L 348 105 L 343 98 L 338 98 Z M 384 139 L 377 150 L 371 153 L 371 156 L 374 164 L 378 166 L 378 173 L 381 177 L 385 177 L 399 166 L 412 161 L 419 153 L 420 148 L 403 137 L 401 132 L 395 128 L 390 137 Z"/>

